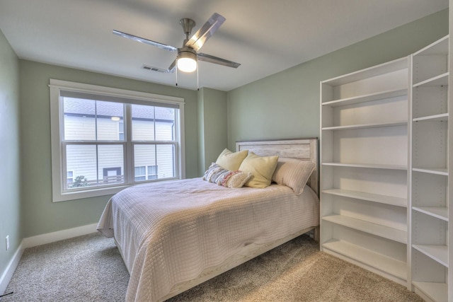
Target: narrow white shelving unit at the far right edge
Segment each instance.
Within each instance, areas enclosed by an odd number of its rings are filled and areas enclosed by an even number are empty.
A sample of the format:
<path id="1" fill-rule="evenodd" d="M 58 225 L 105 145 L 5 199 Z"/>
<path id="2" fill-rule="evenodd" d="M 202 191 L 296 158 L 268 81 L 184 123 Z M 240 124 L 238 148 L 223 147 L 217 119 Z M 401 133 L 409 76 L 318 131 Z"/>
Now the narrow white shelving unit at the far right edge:
<path id="1" fill-rule="evenodd" d="M 411 56 L 411 268 L 414 290 L 427 301 L 453 300 L 448 57 L 448 36 Z"/>

